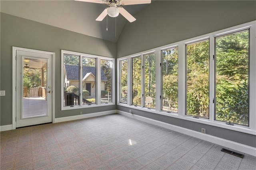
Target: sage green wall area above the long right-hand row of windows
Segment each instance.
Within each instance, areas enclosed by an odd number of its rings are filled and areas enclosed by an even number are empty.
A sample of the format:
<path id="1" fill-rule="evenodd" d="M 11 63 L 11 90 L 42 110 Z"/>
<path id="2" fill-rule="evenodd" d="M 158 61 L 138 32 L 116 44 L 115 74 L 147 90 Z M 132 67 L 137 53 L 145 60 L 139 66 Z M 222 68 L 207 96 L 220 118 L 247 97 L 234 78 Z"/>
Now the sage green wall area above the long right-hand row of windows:
<path id="1" fill-rule="evenodd" d="M 126 22 L 117 58 L 256 20 L 256 1 L 156 0 Z"/>

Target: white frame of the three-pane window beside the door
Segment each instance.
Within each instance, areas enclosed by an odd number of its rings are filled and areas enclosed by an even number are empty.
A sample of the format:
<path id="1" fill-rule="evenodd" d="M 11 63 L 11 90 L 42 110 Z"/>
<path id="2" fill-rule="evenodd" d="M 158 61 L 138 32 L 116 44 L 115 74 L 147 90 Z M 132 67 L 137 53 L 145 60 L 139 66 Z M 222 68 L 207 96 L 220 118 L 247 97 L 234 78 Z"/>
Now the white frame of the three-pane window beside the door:
<path id="1" fill-rule="evenodd" d="M 71 54 L 71 55 L 78 55 L 80 58 L 80 61 L 82 61 L 83 57 L 90 57 L 90 58 L 95 58 L 96 59 L 96 104 L 93 105 L 83 105 L 82 103 L 82 97 L 79 98 L 80 100 L 80 105 L 74 105 L 72 107 L 70 106 L 64 106 L 64 87 L 63 87 L 63 82 L 64 82 L 64 54 Z M 67 51 L 67 50 L 61 50 L 61 110 L 72 110 L 72 109 L 82 109 L 82 108 L 90 108 L 90 107 L 99 107 L 99 106 L 108 106 L 108 105 L 115 105 L 116 100 L 115 100 L 115 79 L 112 78 L 112 102 L 109 103 L 101 103 L 101 96 L 100 96 L 100 82 L 101 81 L 101 65 L 100 65 L 100 60 L 111 60 L 112 61 L 112 77 L 115 76 L 115 59 L 110 58 L 110 57 L 102 57 L 98 55 L 91 55 L 91 54 L 86 54 L 86 53 L 79 53 L 79 52 L 74 52 L 74 51 Z M 80 62 L 80 68 L 82 68 L 83 63 Z M 79 76 L 79 89 L 80 89 L 80 96 L 82 96 L 82 69 L 79 70 L 80 76 Z"/>

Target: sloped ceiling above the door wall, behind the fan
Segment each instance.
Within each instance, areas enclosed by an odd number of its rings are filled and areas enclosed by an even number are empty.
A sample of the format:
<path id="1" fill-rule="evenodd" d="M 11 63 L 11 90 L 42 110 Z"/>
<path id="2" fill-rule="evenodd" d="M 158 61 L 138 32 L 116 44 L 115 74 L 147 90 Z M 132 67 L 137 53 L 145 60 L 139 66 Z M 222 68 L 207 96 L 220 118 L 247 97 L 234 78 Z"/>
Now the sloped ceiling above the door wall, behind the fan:
<path id="1" fill-rule="evenodd" d="M 108 31 L 106 31 L 106 18 L 102 22 L 95 21 L 107 7 L 106 4 L 74 0 L 1 0 L 0 3 L 0 10 L 3 13 L 112 42 L 118 40 L 124 24 L 132 24 L 122 15 L 117 18 L 108 16 Z M 136 18 L 134 14 L 147 5 L 123 7 Z"/>

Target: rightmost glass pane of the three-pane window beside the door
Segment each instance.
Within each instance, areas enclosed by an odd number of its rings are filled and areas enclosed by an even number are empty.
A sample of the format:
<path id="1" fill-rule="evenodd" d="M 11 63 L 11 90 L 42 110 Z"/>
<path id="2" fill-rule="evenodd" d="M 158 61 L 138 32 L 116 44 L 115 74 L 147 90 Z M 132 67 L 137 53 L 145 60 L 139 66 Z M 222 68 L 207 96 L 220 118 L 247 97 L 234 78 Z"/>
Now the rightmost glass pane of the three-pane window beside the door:
<path id="1" fill-rule="evenodd" d="M 101 103 L 112 102 L 112 60 L 100 60 Z"/>

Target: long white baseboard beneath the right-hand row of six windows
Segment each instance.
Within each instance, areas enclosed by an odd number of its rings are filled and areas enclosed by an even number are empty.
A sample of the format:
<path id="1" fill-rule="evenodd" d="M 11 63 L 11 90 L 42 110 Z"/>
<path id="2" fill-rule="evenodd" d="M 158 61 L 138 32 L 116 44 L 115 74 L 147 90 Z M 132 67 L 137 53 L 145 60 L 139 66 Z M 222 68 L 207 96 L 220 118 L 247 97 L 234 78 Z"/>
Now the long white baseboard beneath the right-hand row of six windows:
<path id="1" fill-rule="evenodd" d="M 247 146 L 247 145 L 240 144 L 240 143 L 237 143 L 237 142 L 233 142 L 231 140 L 226 140 L 226 139 L 223 139 L 223 138 L 218 138 L 216 136 L 212 136 L 212 135 L 209 135 L 209 134 L 203 134 L 201 132 L 190 130 L 188 128 L 178 127 L 176 125 L 171 125 L 171 124 L 164 123 L 164 122 L 161 122 L 161 121 L 156 121 L 154 119 L 150 119 L 150 118 L 147 118 L 147 117 L 142 117 L 142 116 L 139 116 L 139 115 L 133 115 L 133 114 L 130 114 L 130 113 L 127 113 L 127 112 L 124 112 L 124 111 L 117 110 L 116 113 L 118 113 L 120 115 L 127 116 L 127 117 L 131 117 L 131 118 L 134 118 L 134 119 L 137 119 L 137 120 L 140 120 L 140 121 L 144 121 L 144 122 L 147 122 L 147 123 L 150 123 L 150 124 L 153 124 L 153 125 L 158 125 L 160 127 L 168 128 L 168 129 L 174 130 L 176 132 L 180 132 L 180 133 L 183 133 L 183 134 L 194 136 L 196 138 L 200 138 L 200 139 L 206 140 L 208 142 L 219 144 L 221 146 L 225 146 L 227 148 L 231 148 L 231 149 L 234 149 L 234 150 L 237 150 L 237 151 L 240 151 L 240 152 L 244 152 L 246 154 L 256 156 L 256 148 L 251 147 L 251 146 Z"/>

